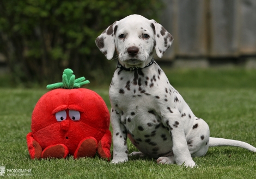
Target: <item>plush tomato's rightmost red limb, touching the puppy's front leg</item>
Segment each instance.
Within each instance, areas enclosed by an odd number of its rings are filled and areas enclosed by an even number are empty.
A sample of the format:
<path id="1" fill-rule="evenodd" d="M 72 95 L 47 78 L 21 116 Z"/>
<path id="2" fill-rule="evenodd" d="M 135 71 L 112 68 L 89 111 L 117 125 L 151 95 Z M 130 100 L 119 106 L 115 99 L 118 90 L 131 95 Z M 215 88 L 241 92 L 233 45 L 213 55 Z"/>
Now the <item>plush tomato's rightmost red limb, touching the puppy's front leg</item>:
<path id="1" fill-rule="evenodd" d="M 98 154 L 101 158 L 107 158 L 108 161 L 111 158 L 110 154 L 110 147 L 111 147 L 111 132 L 107 131 L 105 135 L 101 138 L 98 144 Z"/>

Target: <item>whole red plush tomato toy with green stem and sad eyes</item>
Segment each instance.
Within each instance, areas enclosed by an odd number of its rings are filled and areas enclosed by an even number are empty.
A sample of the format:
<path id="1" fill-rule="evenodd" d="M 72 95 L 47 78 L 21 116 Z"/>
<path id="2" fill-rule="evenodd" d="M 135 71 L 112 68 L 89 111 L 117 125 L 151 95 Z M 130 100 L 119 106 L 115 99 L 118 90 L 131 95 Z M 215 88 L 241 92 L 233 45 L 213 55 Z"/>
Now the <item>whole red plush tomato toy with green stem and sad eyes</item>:
<path id="1" fill-rule="evenodd" d="M 85 78 L 75 80 L 71 69 L 63 72 L 63 82 L 47 85 L 32 113 L 27 135 L 29 155 L 34 158 L 111 157 L 109 112 L 99 94 L 86 88 Z M 57 88 L 57 89 L 54 89 Z"/>

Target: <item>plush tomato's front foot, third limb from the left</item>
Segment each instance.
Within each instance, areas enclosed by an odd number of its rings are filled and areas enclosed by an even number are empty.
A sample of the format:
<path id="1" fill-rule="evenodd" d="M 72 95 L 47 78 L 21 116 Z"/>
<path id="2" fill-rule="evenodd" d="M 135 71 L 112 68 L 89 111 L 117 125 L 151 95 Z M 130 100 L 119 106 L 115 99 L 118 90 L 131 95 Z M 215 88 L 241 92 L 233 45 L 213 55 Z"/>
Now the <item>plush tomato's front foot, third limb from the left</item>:
<path id="1" fill-rule="evenodd" d="M 87 137 L 81 140 L 74 154 L 74 159 L 79 157 L 93 157 L 96 154 L 97 140 L 94 137 Z"/>

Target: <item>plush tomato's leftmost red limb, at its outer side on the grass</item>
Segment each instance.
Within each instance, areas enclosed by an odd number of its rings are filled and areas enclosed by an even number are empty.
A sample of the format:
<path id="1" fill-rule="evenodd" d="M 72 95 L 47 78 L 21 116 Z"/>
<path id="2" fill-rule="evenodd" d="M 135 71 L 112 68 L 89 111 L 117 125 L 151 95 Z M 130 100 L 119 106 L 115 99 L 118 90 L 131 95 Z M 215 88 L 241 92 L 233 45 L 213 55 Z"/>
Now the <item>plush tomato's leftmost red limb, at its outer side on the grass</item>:
<path id="1" fill-rule="evenodd" d="M 28 152 L 31 159 L 41 158 L 42 148 L 38 142 L 34 139 L 32 132 L 27 134 L 27 145 L 28 145 Z"/>

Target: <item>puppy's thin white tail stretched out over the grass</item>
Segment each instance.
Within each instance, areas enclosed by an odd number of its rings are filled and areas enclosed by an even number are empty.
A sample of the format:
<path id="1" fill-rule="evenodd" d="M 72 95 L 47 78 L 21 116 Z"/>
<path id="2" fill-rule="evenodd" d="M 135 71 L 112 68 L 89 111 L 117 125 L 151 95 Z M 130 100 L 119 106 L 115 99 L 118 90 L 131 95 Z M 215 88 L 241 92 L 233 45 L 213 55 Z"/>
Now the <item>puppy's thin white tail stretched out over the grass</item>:
<path id="1" fill-rule="evenodd" d="M 256 148 L 254 148 L 254 146 L 239 140 L 210 137 L 209 146 L 239 146 L 240 148 L 256 152 Z"/>

